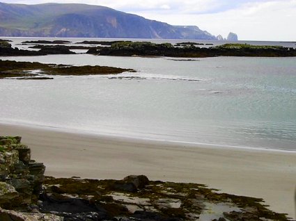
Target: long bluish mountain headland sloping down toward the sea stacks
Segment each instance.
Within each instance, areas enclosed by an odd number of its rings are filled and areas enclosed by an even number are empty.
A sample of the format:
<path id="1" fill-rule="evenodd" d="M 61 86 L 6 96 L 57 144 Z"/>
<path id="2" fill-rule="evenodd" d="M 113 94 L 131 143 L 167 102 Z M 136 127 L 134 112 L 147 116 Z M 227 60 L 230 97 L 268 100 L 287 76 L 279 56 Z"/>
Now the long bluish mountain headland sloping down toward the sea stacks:
<path id="1" fill-rule="evenodd" d="M 0 3 L 0 36 L 216 40 L 197 26 L 172 26 L 103 6 Z"/>

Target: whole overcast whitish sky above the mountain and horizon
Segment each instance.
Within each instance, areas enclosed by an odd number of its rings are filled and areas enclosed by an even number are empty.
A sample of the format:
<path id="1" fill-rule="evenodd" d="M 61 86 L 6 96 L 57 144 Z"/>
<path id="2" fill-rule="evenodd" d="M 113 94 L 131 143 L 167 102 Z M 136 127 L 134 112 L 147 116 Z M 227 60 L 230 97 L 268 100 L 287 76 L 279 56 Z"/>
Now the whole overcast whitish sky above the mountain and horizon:
<path id="1" fill-rule="evenodd" d="M 296 41 L 296 0 L 0 0 L 6 3 L 88 3 L 173 25 L 196 25 L 239 40 Z"/>

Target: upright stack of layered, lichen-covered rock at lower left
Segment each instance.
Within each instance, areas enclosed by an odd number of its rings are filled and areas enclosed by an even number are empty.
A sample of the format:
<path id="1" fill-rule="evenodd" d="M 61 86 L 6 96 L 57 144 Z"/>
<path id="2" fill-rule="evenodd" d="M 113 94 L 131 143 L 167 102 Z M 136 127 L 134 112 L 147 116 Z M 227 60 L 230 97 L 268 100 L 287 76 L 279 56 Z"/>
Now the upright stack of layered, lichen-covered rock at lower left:
<path id="1" fill-rule="evenodd" d="M 25 208 L 42 192 L 45 165 L 31 160 L 20 137 L 0 137 L 0 206 Z"/>

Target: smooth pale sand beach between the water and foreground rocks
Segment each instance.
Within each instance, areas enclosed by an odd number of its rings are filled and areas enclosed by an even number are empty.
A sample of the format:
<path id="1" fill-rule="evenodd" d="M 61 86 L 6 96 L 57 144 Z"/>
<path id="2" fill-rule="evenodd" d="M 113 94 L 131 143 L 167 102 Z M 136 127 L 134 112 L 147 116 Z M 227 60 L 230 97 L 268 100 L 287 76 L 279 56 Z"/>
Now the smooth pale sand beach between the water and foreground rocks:
<path id="1" fill-rule="evenodd" d="M 0 124 L 0 134 L 22 136 L 46 175 L 204 183 L 224 193 L 263 198 L 295 218 L 296 152 L 210 148 L 168 142 L 66 133 Z"/>

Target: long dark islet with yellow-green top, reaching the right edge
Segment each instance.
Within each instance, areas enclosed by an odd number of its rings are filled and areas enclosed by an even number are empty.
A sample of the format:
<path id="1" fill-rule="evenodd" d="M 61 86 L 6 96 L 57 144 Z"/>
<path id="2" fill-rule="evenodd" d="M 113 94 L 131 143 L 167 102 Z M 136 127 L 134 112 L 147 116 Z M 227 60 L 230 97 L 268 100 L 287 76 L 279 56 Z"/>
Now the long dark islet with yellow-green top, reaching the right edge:
<path id="1" fill-rule="evenodd" d="M 215 56 L 288 57 L 296 56 L 296 49 L 281 46 L 258 46 L 251 44 L 223 44 L 217 47 L 196 47 L 196 43 L 115 42 L 111 47 L 89 49 L 88 54 L 102 56 L 167 56 L 203 58 Z"/>

